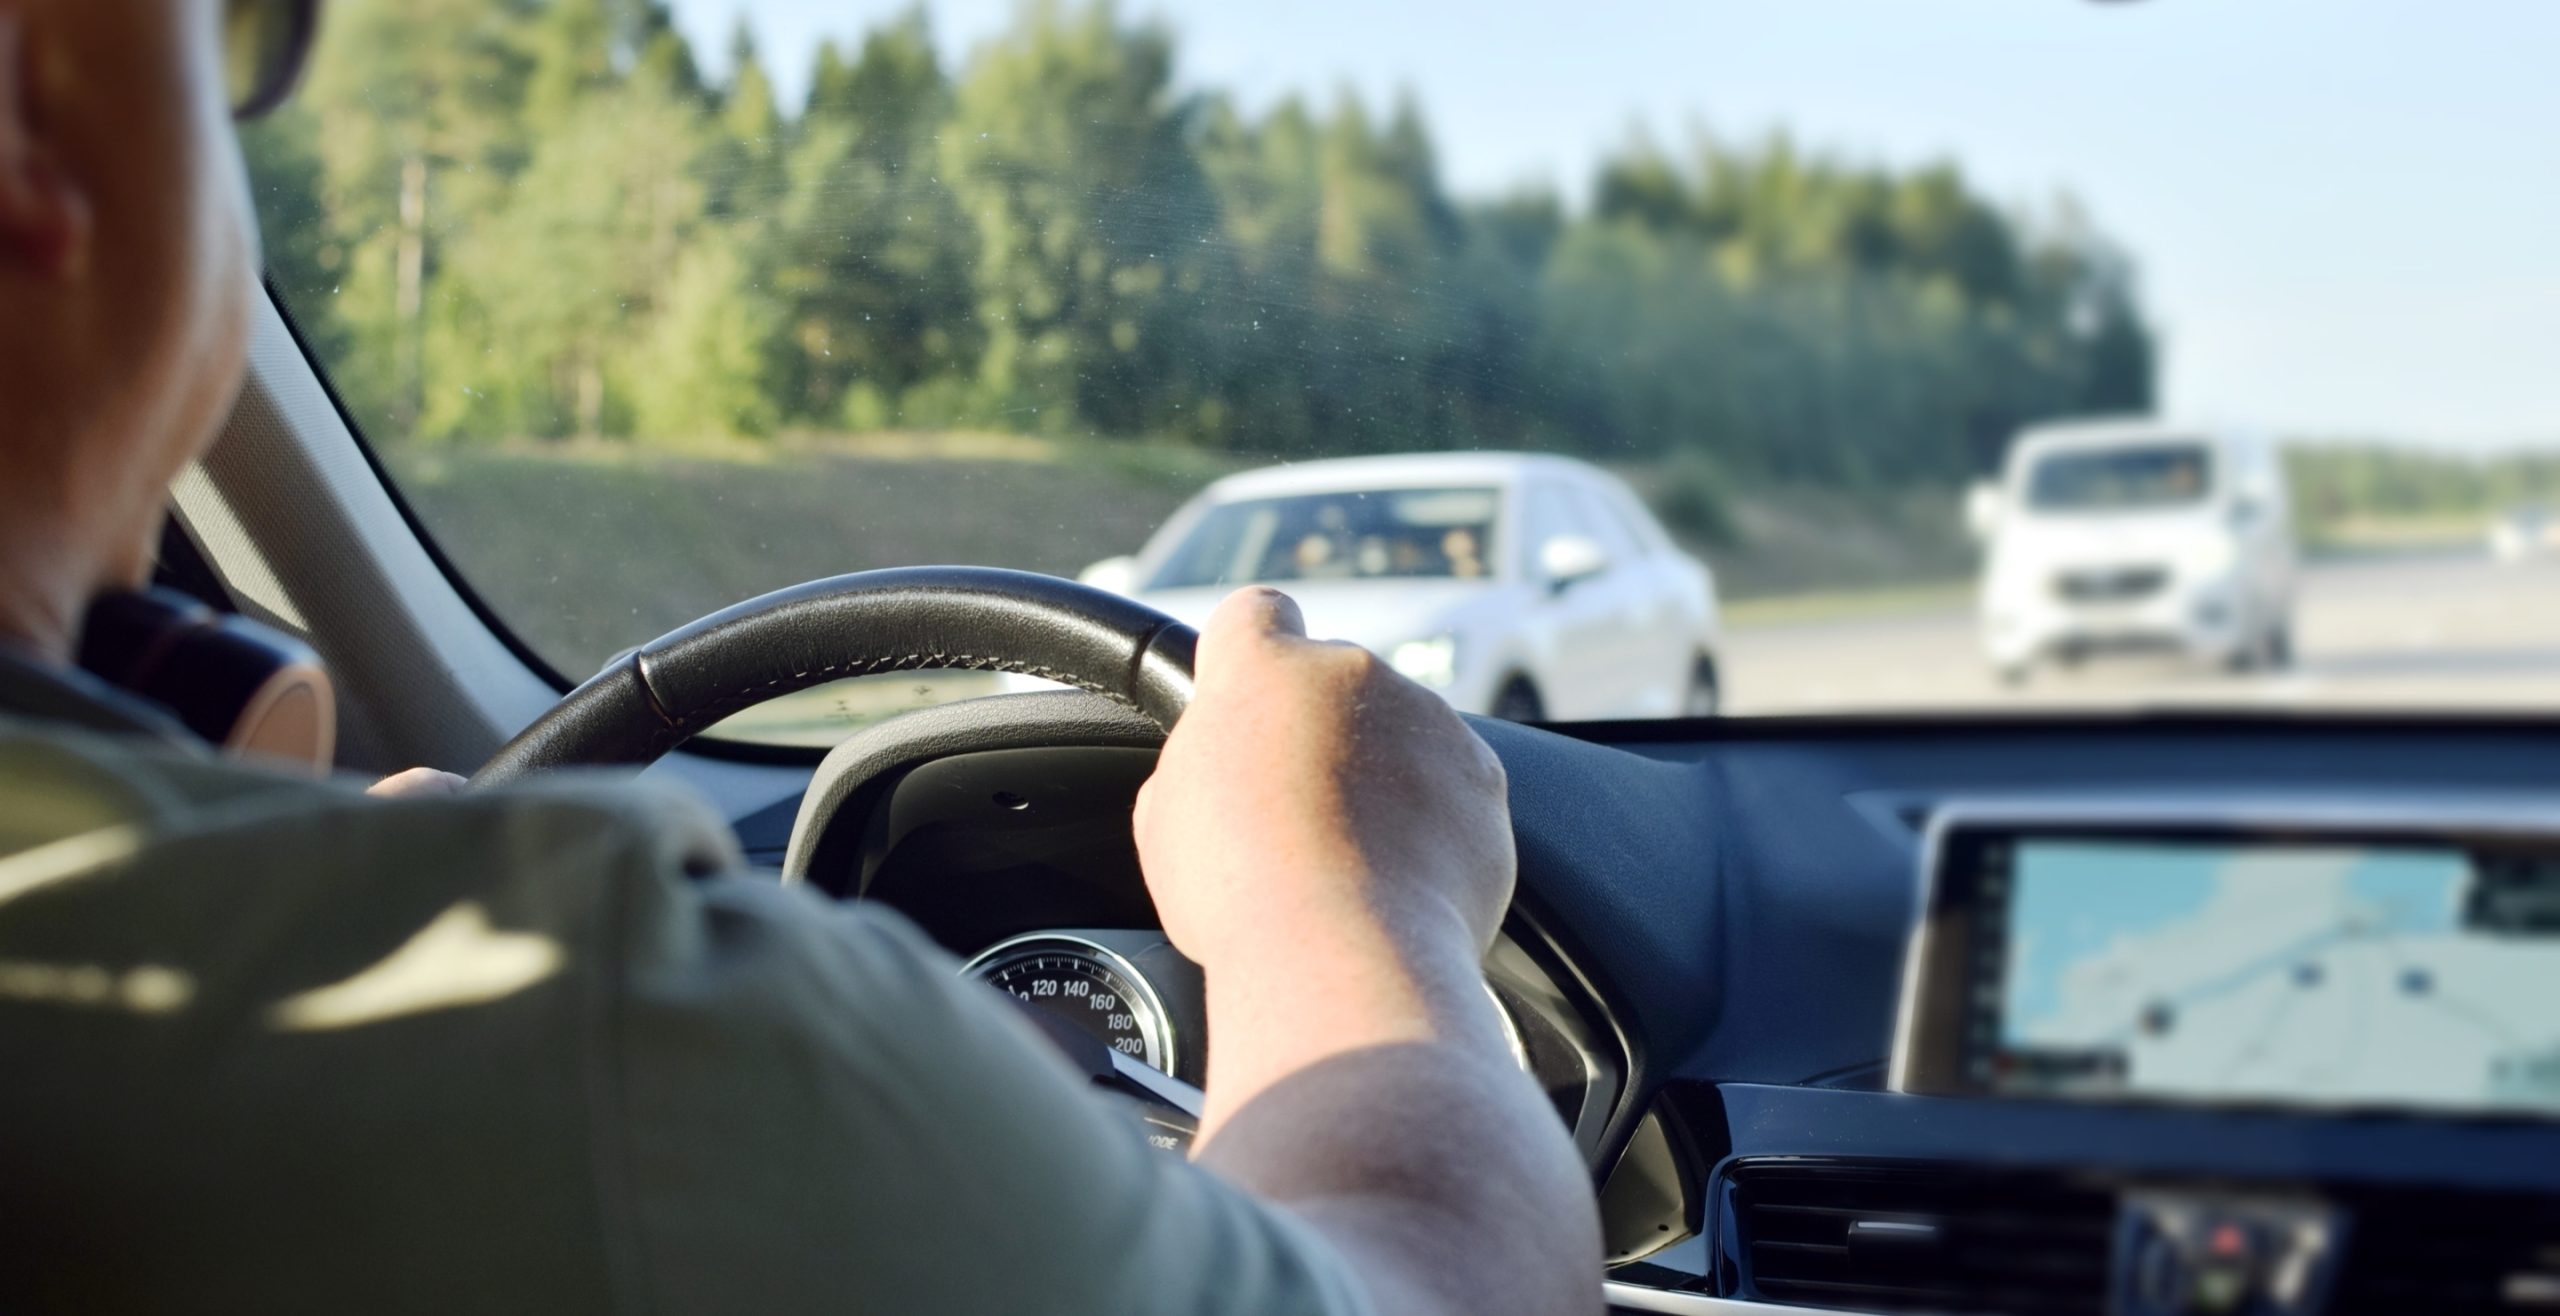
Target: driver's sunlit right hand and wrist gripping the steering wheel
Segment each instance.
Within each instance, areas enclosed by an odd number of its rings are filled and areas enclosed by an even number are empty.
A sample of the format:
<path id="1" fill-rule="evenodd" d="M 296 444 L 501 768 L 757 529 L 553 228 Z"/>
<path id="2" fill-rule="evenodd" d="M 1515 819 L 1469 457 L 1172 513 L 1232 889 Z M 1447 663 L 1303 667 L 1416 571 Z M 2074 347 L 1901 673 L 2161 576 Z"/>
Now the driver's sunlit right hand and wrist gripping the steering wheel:
<path id="1" fill-rule="evenodd" d="M 1265 1045 L 1213 1052 L 1203 1134 L 1344 1050 L 1503 1052 L 1480 981 L 1510 906 L 1503 763 L 1370 650 L 1308 640 L 1288 594 L 1239 589 L 1203 627 L 1198 694 L 1139 791 L 1137 847 L 1165 935 L 1213 986 L 1290 983 L 1252 1024 Z M 1362 970 L 1300 973 L 1334 958 Z"/>

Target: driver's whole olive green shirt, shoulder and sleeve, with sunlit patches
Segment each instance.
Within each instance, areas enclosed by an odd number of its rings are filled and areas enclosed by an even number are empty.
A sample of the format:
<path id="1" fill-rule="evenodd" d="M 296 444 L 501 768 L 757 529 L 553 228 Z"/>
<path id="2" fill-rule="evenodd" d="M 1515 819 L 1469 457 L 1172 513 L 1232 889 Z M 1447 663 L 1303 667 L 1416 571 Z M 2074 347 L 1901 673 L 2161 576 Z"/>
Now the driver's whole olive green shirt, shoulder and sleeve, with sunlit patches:
<path id="1" fill-rule="evenodd" d="M 0 1055 L 5 1311 L 1367 1311 L 681 794 L 0 719 Z"/>

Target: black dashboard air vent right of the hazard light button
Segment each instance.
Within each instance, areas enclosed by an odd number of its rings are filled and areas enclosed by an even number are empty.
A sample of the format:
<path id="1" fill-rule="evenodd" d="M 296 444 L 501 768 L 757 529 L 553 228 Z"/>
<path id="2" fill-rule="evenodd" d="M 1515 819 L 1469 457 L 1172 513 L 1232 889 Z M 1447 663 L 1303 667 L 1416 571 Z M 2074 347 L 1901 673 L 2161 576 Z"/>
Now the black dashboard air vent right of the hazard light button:
<path id="1" fill-rule="evenodd" d="M 2560 1203 L 2442 1193 L 2348 1203 L 2332 1316 L 2560 1313 Z"/>

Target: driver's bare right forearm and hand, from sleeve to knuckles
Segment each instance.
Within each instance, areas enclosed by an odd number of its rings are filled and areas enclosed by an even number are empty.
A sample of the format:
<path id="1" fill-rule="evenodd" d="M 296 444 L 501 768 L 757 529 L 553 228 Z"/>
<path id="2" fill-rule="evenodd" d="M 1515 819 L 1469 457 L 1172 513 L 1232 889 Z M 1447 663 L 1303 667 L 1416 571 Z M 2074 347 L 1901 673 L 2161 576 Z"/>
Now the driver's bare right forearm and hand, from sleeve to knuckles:
<path id="1" fill-rule="evenodd" d="M 1137 840 L 1208 973 L 1198 1160 L 1329 1237 L 1380 1311 L 1595 1311 L 1590 1180 L 1485 999 L 1513 883 L 1492 750 L 1244 589 L 1203 627 Z"/>

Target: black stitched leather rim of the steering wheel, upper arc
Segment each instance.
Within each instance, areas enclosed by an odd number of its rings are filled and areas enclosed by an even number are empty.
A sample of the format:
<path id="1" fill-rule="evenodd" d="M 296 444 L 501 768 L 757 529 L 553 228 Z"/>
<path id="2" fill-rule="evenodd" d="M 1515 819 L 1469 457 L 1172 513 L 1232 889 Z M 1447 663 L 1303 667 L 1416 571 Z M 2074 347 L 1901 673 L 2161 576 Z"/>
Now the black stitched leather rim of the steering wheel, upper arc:
<path id="1" fill-rule="evenodd" d="M 1198 632 L 1029 571 L 901 566 L 796 584 L 676 627 L 561 696 L 474 786 L 568 766 L 643 766 L 737 709 L 883 671 L 1011 671 L 1126 704 L 1167 732 Z"/>

